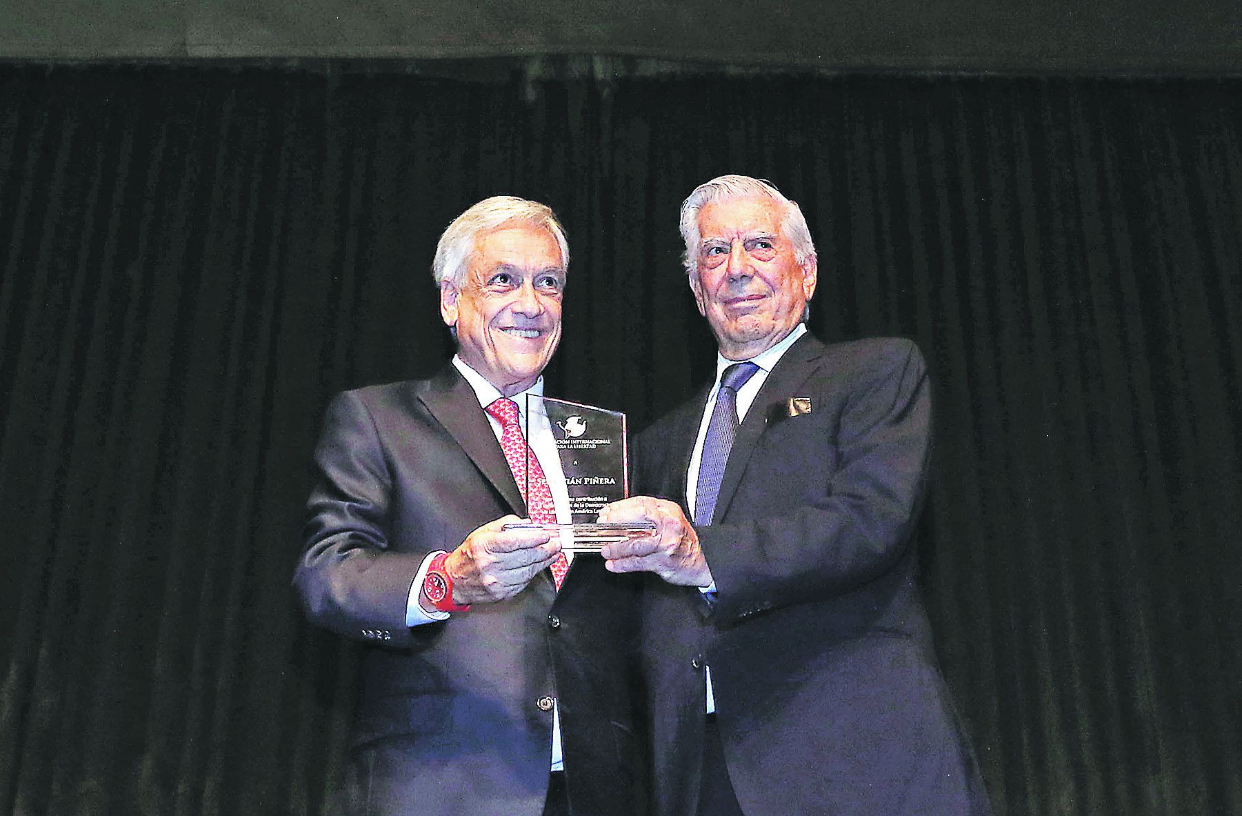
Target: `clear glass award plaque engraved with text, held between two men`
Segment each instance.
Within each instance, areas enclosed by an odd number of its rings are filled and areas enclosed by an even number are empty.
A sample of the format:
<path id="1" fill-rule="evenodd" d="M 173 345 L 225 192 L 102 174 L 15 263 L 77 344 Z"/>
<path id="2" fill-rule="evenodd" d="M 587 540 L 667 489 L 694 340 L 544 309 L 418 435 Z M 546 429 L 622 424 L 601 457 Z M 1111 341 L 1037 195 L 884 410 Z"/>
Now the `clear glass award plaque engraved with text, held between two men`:
<path id="1" fill-rule="evenodd" d="M 561 537 L 561 546 L 576 553 L 599 553 L 610 542 L 651 535 L 656 525 L 601 524 L 595 519 L 605 504 L 630 496 L 625 414 L 579 402 L 527 395 L 527 438 L 532 421 L 546 417 L 560 456 L 569 492 L 570 524 L 512 524 L 505 529 L 546 529 Z M 534 456 L 527 446 L 527 456 Z M 529 463 L 527 472 L 530 472 Z M 529 492 L 527 493 L 529 496 Z"/>

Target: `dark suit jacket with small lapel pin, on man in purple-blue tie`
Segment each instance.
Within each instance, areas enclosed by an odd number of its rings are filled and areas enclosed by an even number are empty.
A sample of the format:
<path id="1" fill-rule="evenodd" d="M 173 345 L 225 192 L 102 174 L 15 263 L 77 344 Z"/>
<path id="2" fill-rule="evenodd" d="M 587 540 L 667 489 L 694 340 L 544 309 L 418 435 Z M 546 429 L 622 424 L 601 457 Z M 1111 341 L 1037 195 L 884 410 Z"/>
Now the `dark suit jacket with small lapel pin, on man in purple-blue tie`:
<path id="1" fill-rule="evenodd" d="M 635 445 L 636 492 L 687 515 L 708 392 Z M 810 412 L 791 416 L 791 397 Z M 748 816 L 987 812 L 914 583 L 930 420 L 923 359 L 907 340 L 826 347 L 805 335 L 769 375 L 713 524 L 697 528 L 717 600 L 658 580 L 646 590 L 657 812 L 694 812 L 704 664 Z"/>

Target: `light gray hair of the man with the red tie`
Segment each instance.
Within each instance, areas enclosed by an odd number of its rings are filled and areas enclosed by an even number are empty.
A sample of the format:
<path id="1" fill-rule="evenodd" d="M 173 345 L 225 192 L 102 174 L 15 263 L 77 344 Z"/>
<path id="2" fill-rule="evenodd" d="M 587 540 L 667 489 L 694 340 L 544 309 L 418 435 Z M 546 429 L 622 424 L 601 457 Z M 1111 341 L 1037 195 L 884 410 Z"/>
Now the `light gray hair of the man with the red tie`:
<path id="1" fill-rule="evenodd" d="M 561 229 L 551 207 L 512 195 L 493 195 L 453 219 L 440 236 L 436 258 L 431 262 L 431 277 L 436 286 L 448 283 L 460 289 L 466 282 L 466 271 L 478 237 L 514 222 L 548 230 L 560 247 L 561 267 L 569 267 L 565 230 Z"/>

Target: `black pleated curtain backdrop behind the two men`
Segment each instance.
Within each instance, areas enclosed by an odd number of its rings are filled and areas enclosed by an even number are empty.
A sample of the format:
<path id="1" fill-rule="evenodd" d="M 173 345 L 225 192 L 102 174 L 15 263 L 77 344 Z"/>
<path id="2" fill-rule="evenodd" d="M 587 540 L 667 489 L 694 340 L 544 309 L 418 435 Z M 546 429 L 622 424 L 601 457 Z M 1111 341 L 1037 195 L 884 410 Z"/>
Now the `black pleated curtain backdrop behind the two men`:
<path id="1" fill-rule="evenodd" d="M 570 237 L 551 392 L 645 425 L 713 365 L 676 212 L 724 171 L 802 204 L 814 330 L 928 356 L 997 812 L 1242 812 L 1242 82 L 328 68 L 0 66 L 0 812 L 320 814 L 329 395 L 447 358 L 436 237 L 514 193 Z"/>

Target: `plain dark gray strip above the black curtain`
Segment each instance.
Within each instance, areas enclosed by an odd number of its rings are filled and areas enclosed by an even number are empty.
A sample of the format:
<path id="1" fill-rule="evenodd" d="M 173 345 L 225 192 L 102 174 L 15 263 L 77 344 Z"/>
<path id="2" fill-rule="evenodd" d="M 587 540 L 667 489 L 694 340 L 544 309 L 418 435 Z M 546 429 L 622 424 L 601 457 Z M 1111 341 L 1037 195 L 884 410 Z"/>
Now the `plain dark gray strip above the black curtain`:
<path id="1" fill-rule="evenodd" d="M 545 55 L 828 72 L 1237 76 L 1242 4 L 0 0 L 0 60 Z"/>

